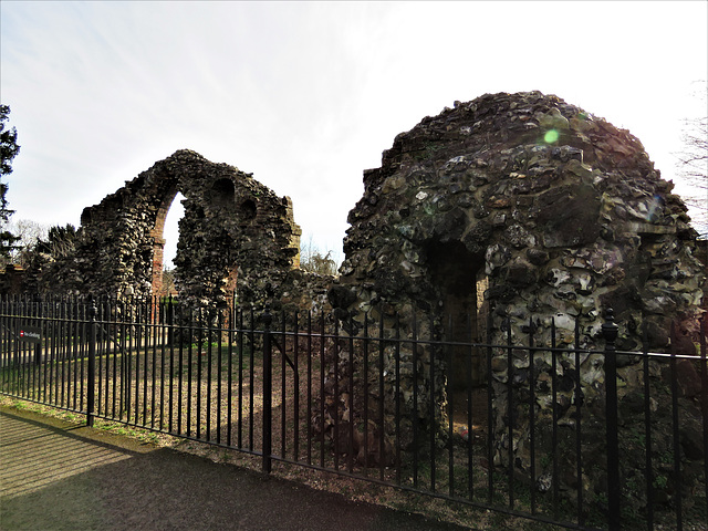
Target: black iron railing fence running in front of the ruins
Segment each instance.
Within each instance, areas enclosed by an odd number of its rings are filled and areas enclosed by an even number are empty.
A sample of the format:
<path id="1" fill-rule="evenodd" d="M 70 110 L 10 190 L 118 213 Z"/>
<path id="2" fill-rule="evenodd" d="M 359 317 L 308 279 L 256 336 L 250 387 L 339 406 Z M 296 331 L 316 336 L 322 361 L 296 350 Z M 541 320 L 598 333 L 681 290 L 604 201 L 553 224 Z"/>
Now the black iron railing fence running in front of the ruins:
<path id="1" fill-rule="evenodd" d="M 611 319 L 602 351 L 559 347 L 553 323 L 523 344 L 510 326 L 492 344 L 424 320 L 357 324 L 2 299 L 0 393 L 248 452 L 267 472 L 284 461 L 570 529 L 705 529 L 706 320 L 696 355 L 617 351 Z"/>

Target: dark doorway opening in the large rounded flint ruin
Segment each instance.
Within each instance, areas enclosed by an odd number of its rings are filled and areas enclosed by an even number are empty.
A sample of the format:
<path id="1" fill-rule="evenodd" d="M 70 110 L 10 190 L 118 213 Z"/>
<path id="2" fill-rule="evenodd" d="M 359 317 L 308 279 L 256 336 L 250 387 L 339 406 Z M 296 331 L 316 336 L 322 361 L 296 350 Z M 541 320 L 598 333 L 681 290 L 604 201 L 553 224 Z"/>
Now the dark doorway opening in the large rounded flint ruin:
<path id="1" fill-rule="evenodd" d="M 441 304 L 440 320 L 445 340 L 450 342 L 480 342 L 485 336 L 485 257 L 473 254 L 460 241 L 429 241 L 425 247 L 428 273 Z M 481 353 L 476 348 L 456 346 L 451 392 L 466 391 L 485 382 Z M 448 379 L 449 381 L 449 379 Z"/>

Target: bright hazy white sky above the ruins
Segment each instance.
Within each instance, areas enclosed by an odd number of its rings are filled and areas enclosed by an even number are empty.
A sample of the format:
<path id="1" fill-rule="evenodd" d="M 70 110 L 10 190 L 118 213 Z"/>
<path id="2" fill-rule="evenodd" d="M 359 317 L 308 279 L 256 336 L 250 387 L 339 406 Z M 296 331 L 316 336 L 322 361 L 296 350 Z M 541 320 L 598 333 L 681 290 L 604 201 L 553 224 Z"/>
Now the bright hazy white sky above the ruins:
<path id="1" fill-rule="evenodd" d="M 629 129 L 677 177 L 706 116 L 706 1 L 0 2 L 11 221 L 82 210 L 178 149 L 290 196 L 342 259 L 363 171 L 458 100 L 539 90 Z M 700 81 L 704 81 L 701 84 Z M 165 238 L 177 244 L 181 205 Z"/>

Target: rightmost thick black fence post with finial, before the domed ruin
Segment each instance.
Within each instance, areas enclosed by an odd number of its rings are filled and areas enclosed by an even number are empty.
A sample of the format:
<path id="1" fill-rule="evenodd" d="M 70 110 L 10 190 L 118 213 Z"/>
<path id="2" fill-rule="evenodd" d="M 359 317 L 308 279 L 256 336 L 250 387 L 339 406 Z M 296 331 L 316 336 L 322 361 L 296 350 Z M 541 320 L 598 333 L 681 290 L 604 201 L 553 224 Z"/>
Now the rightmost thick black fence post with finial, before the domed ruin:
<path id="1" fill-rule="evenodd" d="M 620 529 L 620 439 L 617 436 L 617 360 L 615 340 L 618 326 L 614 310 L 607 309 L 602 335 L 605 339 L 605 417 L 607 423 L 607 524 L 610 531 Z"/>

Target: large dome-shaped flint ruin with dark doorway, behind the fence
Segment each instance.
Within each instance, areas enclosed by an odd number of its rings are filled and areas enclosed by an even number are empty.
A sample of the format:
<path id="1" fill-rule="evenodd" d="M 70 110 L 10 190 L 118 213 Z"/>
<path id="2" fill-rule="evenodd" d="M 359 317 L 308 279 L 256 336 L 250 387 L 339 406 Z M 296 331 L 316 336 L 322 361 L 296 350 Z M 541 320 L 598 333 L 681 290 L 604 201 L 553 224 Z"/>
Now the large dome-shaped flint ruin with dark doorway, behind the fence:
<path id="1" fill-rule="evenodd" d="M 361 323 L 367 313 L 374 319 L 383 314 L 391 323 L 394 312 L 409 322 L 415 312 L 433 312 L 436 321 L 424 333 L 469 341 L 467 334 L 456 336 L 462 329 L 457 317 L 467 312 L 476 341 L 489 333 L 492 343 L 506 344 L 506 320 L 513 344 L 524 344 L 531 322 L 537 345 L 550 346 L 553 320 L 562 347 L 572 346 L 577 319 L 580 346 L 603 348 L 603 312 L 613 308 L 621 330 L 617 347 L 655 352 L 668 351 L 673 321 L 684 332 L 696 322 L 705 267 L 695 256 L 697 235 L 683 201 L 671 194 L 673 184 L 660 178 L 627 131 L 556 96 L 502 93 L 456 102 L 398 135 L 384 152 L 381 168 L 365 171 L 364 185 L 348 217 L 340 284 L 331 290 L 344 322 Z M 486 329 L 489 312 L 492 330 Z M 644 326 L 647 345 L 642 341 Z M 410 353 L 403 356 L 410 361 Z M 582 356 L 581 389 L 574 388 L 574 360 L 559 361 L 559 377 L 571 383 L 559 397 L 559 424 L 574 425 L 574 396 L 584 397 L 593 417 L 603 415 L 603 360 Z M 472 366 L 472 384 L 487 378 L 481 361 L 479 356 Z M 429 374 L 429 352 L 418 363 L 418 374 Z M 446 367 L 440 360 L 434 363 L 433 399 L 445 417 L 446 375 L 466 371 Z M 637 391 L 639 368 L 634 363 L 618 358 L 627 384 L 623 396 Z M 514 350 L 513 365 L 520 384 L 528 385 L 533 374 L 539 386 L 537 426 L 543 431 L 552 418 L 551 391 L 543 385 L 552 377 L 550 353 L 537 354 L 530 367 L 529 353 Z M 491 367 L 496 459 L 504 464 L 502 448 L 510 444 L 506 352 L 494 355 Z M 385 369 L 393 373 L 394 366 Z M 402 397 L 409 409 L 412 373 L 412 364 L 402 363 Z M 418 416 L 425 427 L 431 385 L 418 387 Z M 393 393 L 391 385 L 392 403 Z M 516 404 L 514 459 L 528 469 L 529 412 L 518 397 Z M 537 470 L 543 470 L 540 464 Z M 590 483 L 597 481 L 592 478 Z"/>

